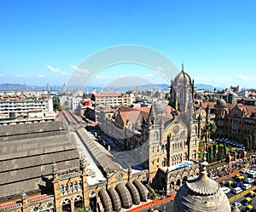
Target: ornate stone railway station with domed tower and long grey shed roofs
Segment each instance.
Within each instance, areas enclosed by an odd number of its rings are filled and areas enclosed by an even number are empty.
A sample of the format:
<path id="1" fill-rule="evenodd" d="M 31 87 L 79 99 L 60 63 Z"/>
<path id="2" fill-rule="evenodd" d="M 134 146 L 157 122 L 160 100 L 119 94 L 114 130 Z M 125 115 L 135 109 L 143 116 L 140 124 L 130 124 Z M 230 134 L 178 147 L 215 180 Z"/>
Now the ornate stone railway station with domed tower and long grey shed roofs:
<path id="1" fill-rule="evenodd" d="M 195 109 L 194 82 L 184 70 L 172 81 L 170 95 L 168 106 L 154 102 L 148 111 L 99 110 L 102 131 L 120 149 L 132 151 L 132 158 L 143 158 L 143 169 L 120 164 L 81 126 L 73 134 L 63 121 L 2 126 L 0 208 L 120 211 L 148 201 L 145 182 L 171 194 L 200 173 L 194 162 L 209 114 L 203 107 Z M 88 158 L 79 154 L 76 139 Z"/>

